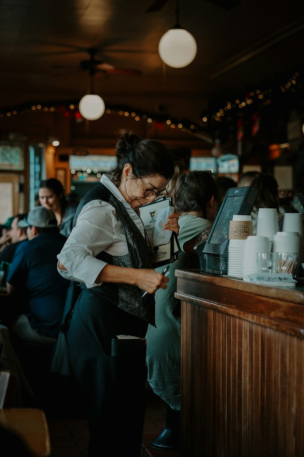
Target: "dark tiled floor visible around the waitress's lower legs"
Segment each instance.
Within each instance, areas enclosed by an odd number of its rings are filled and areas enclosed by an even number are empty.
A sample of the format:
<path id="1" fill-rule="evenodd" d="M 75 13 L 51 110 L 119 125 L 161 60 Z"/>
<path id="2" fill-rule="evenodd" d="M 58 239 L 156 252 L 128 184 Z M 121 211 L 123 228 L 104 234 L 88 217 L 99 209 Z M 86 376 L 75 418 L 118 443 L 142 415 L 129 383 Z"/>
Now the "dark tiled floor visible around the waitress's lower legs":
<path id="1" fill-rule="evenodd" d="M 180 457 L 177 451 L 153 449 L 151 441 L 165 427 L 165 402 L 161 400 L 147 385 L 147 406 L 144 422 L 143 444 L 140 457 Z M 88 426 L 84 419 L 57 420 L 48 419 L 52 457 L 87 457 Z M 126 455 L 128 454 L 126 447 Z M 110 455 L 110 454 L 109 454 Z M 129 454 L 128 454 L 129 455 Z M 123 457 L 111 452 L 111 457 Z"/>

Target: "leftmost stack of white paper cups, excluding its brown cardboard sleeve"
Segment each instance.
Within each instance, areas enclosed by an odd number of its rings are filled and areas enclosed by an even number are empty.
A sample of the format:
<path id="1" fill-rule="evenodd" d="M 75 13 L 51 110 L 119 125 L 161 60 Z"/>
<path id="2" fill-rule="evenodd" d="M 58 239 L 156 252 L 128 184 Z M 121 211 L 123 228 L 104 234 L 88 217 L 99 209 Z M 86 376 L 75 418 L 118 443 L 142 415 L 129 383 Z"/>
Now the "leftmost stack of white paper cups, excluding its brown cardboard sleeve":
<path id="1" fill-rule="evenodd" d="M 240 222 L 240 227 L 243 226 L 242 222 L 250 222 L 251 216 L 243 216 L 234 214 L 232 217 L 232 221 Z M 248 224 L 247 224 L 248 225 Z M 244 243 L 246 241 L 247 236 L 243 235 L 243 239 L 231 239 L 232 234 L 229 233 L 229 245 L 228 245 L 228 272 L 227 276 L 234 276 L 238 278 L 242 278 L 242 260 L 243 260 L 243 250 L 244 250 Z M 234 236 L 236 238 L 236 236 Z"/>

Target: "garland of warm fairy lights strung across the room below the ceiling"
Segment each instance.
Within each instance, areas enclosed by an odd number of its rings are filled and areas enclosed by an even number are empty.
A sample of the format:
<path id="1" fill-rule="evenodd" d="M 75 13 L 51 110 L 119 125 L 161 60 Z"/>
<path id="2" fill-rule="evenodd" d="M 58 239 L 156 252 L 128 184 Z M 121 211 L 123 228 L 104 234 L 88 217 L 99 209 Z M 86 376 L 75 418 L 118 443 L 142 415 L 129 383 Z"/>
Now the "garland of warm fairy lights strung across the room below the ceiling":
<path id="1" fill-rule="evenodd" d="M 281 92 L 295 92 L 295 85 L 297 84 L 297 78 L 299 77 L 299 72 L 295 72 L 292 77 L 289 78 L 289 81 L 286 82 L 286 84 L 280 85 L 279 88 Z M 299 87 L 302 86 L 302 84 L 298 84 Z M 119 114 L 121 116 L 131 116 L 134 118 L 136 122 L 138 122 L 140 119 L 146 120 L 149 124 L 155 122 L 155 123 L 161 123 L 162 125 L 168 126 L 172 129 L 180 129 L 182 132 L 202 132 L 206 133 L 206 127 L 204 124 L 206 124 L 208 121 L 216 121 L 216 122 L 221 122 L 223 118 L 225 117 L 226 114 L 229 114 L 231 110 L 243 110 L 246 106 L 250 106 L 253 103 L 257 101 L 263 101 L 263 106 L 266 106 L 271 103 L 272 101 L 272 96 L 273 96 L 273 91 L 275 88 L 268 88 L 266 90 L 252 90 L 250 93 L 247 94 L 246 97 L 243 99 L 236 98 L 235 100 L 230 100 L 227 101 L 225 106 L 222 106 L 219 108 L 216 112 L 214 112 L 212 115 L 205 114 L 201 118 L 202 124 L 199 125 L 195 122 L 191 122 L 190 120 L 183 120 L 180 121 L 175 118 L 170 118 L 170 116 L 167 115 L 157 115 L 157 114 L 148 114 L 148 113 L 143 113 L 140 110 L 134 110 L 130 107 L 121 107 L 121 106 L 110 106 L 109 104 L 106 104 L 106 113 L 107 114 Z M 35 111 L 41 111 L 41 112 L 62 112 L 63 116 L 65 117 L 70 117 L 73 115 L 75 117 L 75 120 L 77 122 L 81 122 L 84 120 L 82 115 L 80 114 L 78 110 L 78 100 L 71 100 L 71 101 L 52 101 L 52 102 L 47 102 L 47 103 L 27 103 L 23 104 L 20 106 L 16 106 L 11 109 L 3 109 L 0 111 L 0 118 L 3 117 L 10 117 L 14 116 L 18 113 L 21 112 L 35 112 Z"/>

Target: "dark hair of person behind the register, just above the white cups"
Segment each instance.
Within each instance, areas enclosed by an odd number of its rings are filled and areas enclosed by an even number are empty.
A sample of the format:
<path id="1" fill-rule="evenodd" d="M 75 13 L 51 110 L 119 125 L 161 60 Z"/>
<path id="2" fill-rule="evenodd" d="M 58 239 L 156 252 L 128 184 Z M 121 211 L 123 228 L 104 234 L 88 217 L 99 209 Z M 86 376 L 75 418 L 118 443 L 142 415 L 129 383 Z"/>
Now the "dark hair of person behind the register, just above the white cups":
<path id="1" fill-rule="evenodd" d="M 280 199 L 278 195 L 278 182 L 275 178 L 266 173 L 259 173 L 251 185 L 259 190 L 254 205 L 256 208 L 276 208 L 278 211 Z"/>

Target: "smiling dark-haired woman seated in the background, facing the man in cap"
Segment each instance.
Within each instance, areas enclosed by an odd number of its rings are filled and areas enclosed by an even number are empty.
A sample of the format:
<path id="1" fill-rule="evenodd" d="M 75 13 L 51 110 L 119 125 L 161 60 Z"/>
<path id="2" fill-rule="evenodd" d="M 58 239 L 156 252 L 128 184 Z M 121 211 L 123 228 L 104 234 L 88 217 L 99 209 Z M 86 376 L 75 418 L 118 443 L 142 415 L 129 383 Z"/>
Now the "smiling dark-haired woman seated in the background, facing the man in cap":
<path id="1" fill-rule="evenodd" d="M 67 238 L 72 230 L 78 203 L 67 201 L 62 183 L 56 178 L 41 181 L 38 198 L 41 206 L 50 209 L 55 214 L 59 232 Z"/>

